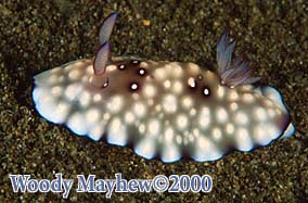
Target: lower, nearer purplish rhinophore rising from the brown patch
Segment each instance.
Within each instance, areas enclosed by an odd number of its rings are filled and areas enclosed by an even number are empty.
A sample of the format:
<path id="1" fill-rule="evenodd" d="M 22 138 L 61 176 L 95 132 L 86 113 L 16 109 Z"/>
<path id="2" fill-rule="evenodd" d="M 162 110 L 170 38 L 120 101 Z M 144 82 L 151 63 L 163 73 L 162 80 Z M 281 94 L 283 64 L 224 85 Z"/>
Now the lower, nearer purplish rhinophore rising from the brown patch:
<path id="1" fill-rule="evenodd" d="M 93 68 L 95 75 L 101 75 L 105 73 L 107 62 L 110 60 L 110 42 L 105 42 L 102 45 L 97 52 L 94 62 L 93 62 Z"/>

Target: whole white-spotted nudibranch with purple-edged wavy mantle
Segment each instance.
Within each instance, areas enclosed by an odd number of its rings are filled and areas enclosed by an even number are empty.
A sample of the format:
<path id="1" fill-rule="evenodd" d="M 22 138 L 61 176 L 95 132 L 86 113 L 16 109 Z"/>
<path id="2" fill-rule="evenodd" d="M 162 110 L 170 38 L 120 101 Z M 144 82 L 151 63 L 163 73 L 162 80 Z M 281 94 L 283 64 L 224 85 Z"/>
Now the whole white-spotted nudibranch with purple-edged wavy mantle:
<path id="1" fill-rule="evenodd" d="M 145 158 L 214 161 L 232 150 L 251 151 L 294 134 L 281 94 L 259 78 L 223 35 L 217 72 L 194 63 L 111 55 L 117 14 L 104 20 L 94 59 L 35 76 L 39 114 L 73 132 L 131 145 Z"/>

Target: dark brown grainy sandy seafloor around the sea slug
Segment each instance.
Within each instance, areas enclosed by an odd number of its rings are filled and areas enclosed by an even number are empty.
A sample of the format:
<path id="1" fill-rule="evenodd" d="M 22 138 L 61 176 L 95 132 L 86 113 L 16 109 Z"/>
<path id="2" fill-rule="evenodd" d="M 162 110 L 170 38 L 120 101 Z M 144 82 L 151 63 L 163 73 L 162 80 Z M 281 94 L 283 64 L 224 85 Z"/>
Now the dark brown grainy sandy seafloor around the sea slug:
<path id="1" fill-rule="evenodd" d="M 133 7 L 132 7 L 133 5 Z M 136 10 L 142 15 L 137 18 Z M 296 132 L 254 152 L 233 152 L 210 163 L 164 164 L 129 148 L 77 137 L 44 120 L 31 100 L 33 76 L 63 63 L 91 58 L 98 29 L 117 11 L 114 55 L 195 62 L 216 68 L 216 45 L 230 30 L 236 53 L 245 53 L 290 107 Z M 1 1 L 0 202 L 304 202 L 308 199 L 308 4 L 305 1 Z M 146 25 L 142 20 L 149 20 Z M 13 193 L 10 174 L 52 180 L 74 178 L 62 193 Z M 153 178 L 213 177 L 209 193 L 76 193 L 76 176 Z"/>

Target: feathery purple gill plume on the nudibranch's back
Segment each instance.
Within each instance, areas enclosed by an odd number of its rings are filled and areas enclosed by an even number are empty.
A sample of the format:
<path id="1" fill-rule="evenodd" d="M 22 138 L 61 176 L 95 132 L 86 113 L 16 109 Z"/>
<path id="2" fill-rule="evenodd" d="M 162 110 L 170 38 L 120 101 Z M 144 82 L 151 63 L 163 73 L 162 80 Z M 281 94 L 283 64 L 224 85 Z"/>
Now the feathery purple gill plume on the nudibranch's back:
<path id="1" fill-rule="evenodd" d="M 218 76 L 227 86 L 239 86 L 256 83 L 260 77 L 252 77 L 254 69 L 247 66 L 247 63 L 241 59 L 235 59 L 232 63 L 232 52 L 235 47 L 235 41 L 229 40 L 224 34 L 217 46 L 217 64 Z"/>

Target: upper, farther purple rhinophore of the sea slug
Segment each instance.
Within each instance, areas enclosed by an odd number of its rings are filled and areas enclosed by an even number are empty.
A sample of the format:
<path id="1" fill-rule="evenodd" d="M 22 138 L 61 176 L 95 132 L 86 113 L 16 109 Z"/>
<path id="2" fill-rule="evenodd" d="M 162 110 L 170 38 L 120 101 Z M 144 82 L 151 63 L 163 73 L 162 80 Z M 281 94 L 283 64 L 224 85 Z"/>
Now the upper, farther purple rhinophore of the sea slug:
<path id="1" fill-rule="evenodd" d="M 110 36 L 113 31 L 116 17 L 117 17 L 117 13 L 112 13 L 104 20 L 103 25 L 101 26 L 101 29 L 100 29 L 100 34 L 99 34 L 100 45 L 103 45 L 110 40 Z"/>

